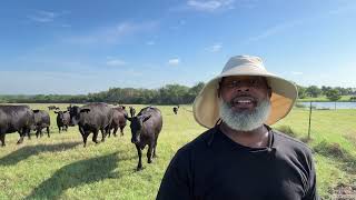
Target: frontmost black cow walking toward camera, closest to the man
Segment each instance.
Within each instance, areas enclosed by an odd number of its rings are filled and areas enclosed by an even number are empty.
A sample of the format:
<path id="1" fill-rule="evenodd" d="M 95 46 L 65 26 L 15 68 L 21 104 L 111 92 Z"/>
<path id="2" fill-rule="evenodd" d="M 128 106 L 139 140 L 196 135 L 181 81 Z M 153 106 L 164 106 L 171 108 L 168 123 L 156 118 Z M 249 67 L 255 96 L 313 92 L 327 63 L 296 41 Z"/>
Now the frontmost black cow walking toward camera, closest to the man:
<path id="1" fill-rule="evenodd" d="M 148 144 L 147 162 L 151 163 L 156 158 L 156 146 L 160 130 L 162 129 L 162 116 L 160 110 L 152 107 L 144 108 L 136 117 L 126 118 L 131 121 L 131 142 L 135 143 L 138 153 L 137 170 L 142 169 L 142 151 Z"/>

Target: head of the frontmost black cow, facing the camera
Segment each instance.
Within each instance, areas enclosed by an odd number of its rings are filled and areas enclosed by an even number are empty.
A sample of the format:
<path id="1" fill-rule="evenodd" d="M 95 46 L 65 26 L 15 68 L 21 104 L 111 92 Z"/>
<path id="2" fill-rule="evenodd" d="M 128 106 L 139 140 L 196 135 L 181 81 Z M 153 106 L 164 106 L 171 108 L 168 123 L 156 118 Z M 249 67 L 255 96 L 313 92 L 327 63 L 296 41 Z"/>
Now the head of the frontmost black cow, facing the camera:
<path id="1" fill-rule="evenodd" d="M 144 114 L 144 116 L 136 116 L 132 118 L 129 118 L 127 114 L 125 114 L 125 118 L 131 122 L 131 142 L 132 143 L 139 143 L 140 142 L 140 136 L 141 131 L 144 129 L 144 123 L 151 117 L 151 114 Z"/>

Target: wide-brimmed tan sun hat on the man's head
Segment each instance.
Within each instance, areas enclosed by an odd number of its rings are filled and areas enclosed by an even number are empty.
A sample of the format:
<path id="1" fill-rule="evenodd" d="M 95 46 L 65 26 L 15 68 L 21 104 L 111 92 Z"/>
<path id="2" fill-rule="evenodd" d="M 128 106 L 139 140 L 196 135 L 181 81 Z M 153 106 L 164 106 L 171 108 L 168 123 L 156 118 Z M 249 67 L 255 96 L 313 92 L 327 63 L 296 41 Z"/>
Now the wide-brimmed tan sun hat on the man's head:
<path id="1" fill-rule="evenodd" d="M 283 119 L 291 110 L 298 91 L 296 86 L 266 70 L 260 58 L 253 56 L 236 56 L 229 59 L 221 73 L 210 80 L 196 97 L 192 111 L 196 121 L 206 128 L 212 128 L 219 117 L 218 87 L 222 77 L 258 76 L 267 79 L 271 88 L 270 113 L 265 122 L 273 124 Z"/>

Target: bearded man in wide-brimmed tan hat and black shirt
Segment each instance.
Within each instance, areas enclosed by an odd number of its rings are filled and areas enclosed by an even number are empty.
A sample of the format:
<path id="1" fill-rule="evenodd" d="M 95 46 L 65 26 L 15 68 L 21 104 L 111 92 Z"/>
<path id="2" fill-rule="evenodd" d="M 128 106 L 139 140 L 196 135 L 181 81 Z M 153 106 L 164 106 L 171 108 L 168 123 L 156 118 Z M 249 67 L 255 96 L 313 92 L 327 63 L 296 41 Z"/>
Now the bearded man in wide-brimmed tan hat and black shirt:
<path id="1" fill-rule="evenodd" d="M 296 98 L 258 57 L 233 57 L 194 102 L 209 130 L 176 153 L 157 199 L 318 199 L 308 147 L 269 127 Z"/>

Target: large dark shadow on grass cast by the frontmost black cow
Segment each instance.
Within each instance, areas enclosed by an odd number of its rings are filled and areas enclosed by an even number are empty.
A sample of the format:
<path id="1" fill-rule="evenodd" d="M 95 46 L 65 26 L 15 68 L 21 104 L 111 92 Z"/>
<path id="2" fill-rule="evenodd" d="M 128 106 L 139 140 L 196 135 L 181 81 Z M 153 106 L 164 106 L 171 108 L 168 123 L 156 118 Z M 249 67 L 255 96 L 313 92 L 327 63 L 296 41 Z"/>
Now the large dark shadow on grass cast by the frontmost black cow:
<path id="1" fill-rule="evenodd" d="M 80 160 L 62 167 L 55 174 L 34 188 L 26 199 L 58 199 L 60 194 L 70 188 L 89 184 L 103 179 L 118 178 L 118 152 Z M 127 158 L 129 159 L 129 158 Z M 95 192 L 95 191 L 92 191 Z"/>

